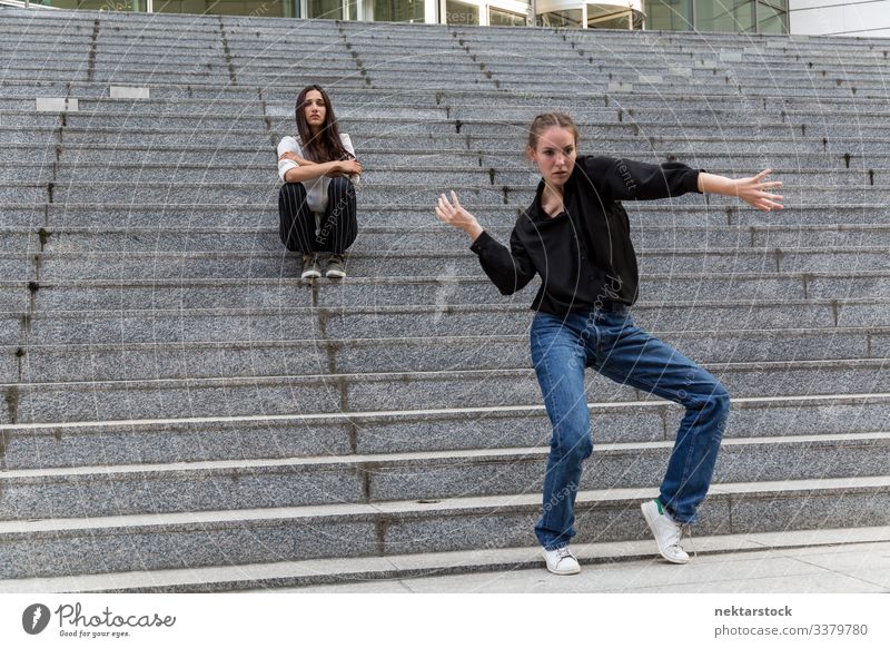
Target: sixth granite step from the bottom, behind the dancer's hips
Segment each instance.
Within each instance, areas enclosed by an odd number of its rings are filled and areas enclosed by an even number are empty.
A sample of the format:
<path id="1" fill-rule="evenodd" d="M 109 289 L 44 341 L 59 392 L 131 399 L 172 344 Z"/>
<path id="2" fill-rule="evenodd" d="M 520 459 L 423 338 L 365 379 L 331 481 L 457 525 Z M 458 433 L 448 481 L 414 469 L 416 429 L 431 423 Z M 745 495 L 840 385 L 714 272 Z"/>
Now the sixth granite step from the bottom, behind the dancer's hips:
<path id="1" fill-rule="evenodd" d="M 26 294 L 26 289 L 22 293 Z M 306 286 L 305 292 L 312 287 Z M 23 305 L 28 303 L 22 300 Z M 527 303 L 431 304 L 397 306 L 372 304 L 345 308 L 291 306 L 283 308 L 179 308 L 98 311 L 89 317 L 79 311 L 11 312 L 1 316 L 0 341 L 14 348 L 53 344 L 178 344 L 243 341 L 293 341 L 327 338 L 339 341 L 375 338 L 438 338 L 462 335 L 525 335 L 533 312 Z M 831 337 L 835 327 L 880 331 L 890 326 L 887 300 L 771 301 L 706 300 L 649 302 L 633 307 L 639 326 L 651 331 L 675 331 L 694 344 L 696 331 L 808 330 Z M 763 333 L 767 335 L 767 333 Z M 363 343 L 364 344 L 364 343 Z M 349 344 L 346 345 L 347 347 Z M 360 344 L 359 344 L 360 348 Z M 874 348 L 870 348 L 874 351 Z M 9 362 L 22 364 L 22 361 Z"/>

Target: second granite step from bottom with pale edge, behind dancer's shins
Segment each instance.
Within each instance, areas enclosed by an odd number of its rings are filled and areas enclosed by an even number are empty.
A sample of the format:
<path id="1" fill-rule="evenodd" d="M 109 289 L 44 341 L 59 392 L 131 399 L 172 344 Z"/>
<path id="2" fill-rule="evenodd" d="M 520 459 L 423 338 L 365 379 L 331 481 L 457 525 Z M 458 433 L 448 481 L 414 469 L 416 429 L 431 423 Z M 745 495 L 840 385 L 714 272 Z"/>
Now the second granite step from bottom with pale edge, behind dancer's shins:
<path id="1" fill-rule="evenodd" d="M 673 441 L 601 444 L 582 490 L 657 489 Z M 541 492 L 547 445 L 487 451 L 4 471 L 0 519 L 71 519 Z M 890 432 L 728 439 L 721 483 L 880 477 Z M 77 492 L 71 501 L 68 493 Z M 59 502 L 65 502 L 59 505 Z"/>

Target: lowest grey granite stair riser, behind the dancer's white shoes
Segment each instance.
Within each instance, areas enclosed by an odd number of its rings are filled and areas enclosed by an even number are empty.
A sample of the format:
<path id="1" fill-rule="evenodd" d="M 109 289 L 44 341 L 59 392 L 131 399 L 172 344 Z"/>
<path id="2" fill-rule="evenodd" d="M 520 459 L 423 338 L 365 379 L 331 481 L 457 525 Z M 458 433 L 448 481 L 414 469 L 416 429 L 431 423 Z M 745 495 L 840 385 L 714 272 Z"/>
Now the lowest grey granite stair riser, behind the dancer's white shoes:
<path id="1" fill-rule="evenodd" d="M 654 491 L 653 491 L 654 494 Z M 886 490 L 805 492 L 802 495 L 733 497 L 714 493 L 702 508 L 699 534 L 882 526 L 886 507 L 876 502 Z M 71 573 L 197 568 L 306 560 L 335 556 L 373 556 L 534 547 L 538 505 L 466 512 L 432 512 L 414 518 L 377 514 L 354 521 L 287 520 L 227 524 L 180 524 L 150 532 L 106 529 L 90 533 L 53 531 L 2 543 L 0 577 L 28 578 Z M 580 503 L 575 542 L 650 538 L 639 502 Z"/>

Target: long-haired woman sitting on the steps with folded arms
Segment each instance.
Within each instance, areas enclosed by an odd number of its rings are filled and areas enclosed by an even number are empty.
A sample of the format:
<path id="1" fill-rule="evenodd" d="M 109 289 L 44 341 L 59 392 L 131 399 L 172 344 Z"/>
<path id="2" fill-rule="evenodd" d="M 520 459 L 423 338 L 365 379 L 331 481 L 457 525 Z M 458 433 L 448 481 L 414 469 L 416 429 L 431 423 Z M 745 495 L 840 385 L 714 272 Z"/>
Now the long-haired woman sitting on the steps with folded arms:
<path id="1" fill-rule="evenodd" d="M 278 144 L 281 243 L 300 253 L 304 279 L 322 276 L 319 254 L 329 252 L 326 276 L 346 276 L 344 253 L 358 235 L 355 187 L 362 164 L 349 136 L 340 132 L 327 94 L 307 86 L 297 97 L 298 137 Z"/>

